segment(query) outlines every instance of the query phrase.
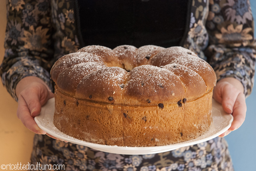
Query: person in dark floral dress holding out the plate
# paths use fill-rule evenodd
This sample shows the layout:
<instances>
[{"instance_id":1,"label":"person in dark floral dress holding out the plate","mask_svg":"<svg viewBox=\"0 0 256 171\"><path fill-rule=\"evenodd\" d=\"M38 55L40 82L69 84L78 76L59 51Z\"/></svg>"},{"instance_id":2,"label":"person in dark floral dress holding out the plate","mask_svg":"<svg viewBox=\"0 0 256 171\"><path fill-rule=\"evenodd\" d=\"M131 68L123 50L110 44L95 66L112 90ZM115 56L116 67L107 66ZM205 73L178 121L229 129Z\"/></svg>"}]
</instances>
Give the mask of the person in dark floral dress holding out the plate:
<instances>
[{"instance_id":1,"label":"person in dark floral dress holding out the plate","mask_svg":"<svg viewBox=\"0 0 256 171\"><path fill-rule=\"evenodd\" d=\"M18 101L18 118L36 133L31 164L64 164L65 170L77 171L232 171L228 145L221 137L245 120L245 98L252 92L255 73L253 23L249 0L7 1L0 74ZM93 44L194 51L215 70L213 98L234 116L231 127L207 142L147 155L105 153L47 134L34 117L54 97L51 67L65 54Z\"/></svg>"}]
</instances>

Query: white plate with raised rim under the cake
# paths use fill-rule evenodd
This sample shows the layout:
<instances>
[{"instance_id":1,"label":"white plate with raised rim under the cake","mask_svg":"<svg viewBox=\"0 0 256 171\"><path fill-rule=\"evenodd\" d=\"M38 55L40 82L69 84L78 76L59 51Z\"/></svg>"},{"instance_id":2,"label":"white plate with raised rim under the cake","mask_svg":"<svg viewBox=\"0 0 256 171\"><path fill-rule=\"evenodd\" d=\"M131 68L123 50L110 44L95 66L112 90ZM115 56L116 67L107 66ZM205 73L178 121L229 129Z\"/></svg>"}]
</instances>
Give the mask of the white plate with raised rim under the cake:
<instances>
[{"instance_id":1,"label":"white plate with raised rim under the cake","mask_svg":"<svg viewBox=\"0 0 256 171\"><path fill-rule=\"evenodd\" d=\"M212 100L212 115L213 115L213 124L210 126L208 132L197 137L196 139L185 141L181 143L164 145L164 146L153 146L153 147L126 147L126 146L111 146L111 145L102 145L94 144L90 142L81 141L75 139L69 135L66 135L59 131L53 124L53 115L54 115L54 98L48 100L48 102L42 107L41 114L35 117L37 125L44 130L45 132L68 142L88 146L92 149L116 153L116 154L153 154L153 153L162 153L166 151L171 151L177 148L184 146L198 144L204 141L211 140L220 134L224 133L229 129L233 121L233 116L227 114L223 111L222 106Z\"/></svg>"}]
</instances>

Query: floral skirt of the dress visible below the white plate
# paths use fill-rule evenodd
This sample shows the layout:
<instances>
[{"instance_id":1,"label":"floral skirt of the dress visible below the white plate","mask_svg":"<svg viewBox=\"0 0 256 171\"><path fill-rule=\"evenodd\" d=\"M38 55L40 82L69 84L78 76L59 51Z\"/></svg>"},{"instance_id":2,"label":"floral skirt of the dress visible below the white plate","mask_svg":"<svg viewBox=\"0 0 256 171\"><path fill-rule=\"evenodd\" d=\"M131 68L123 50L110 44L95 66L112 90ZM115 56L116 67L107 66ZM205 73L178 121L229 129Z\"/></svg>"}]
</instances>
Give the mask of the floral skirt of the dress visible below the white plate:
<instances>
[{"instance_id":1,"label":"floral skirt of the dress visible below the white plate","mask_svg":"<svg viewBox=\"0 0 256 171\"><path fill-rule=\"evenodd\" d=\"M64 164L68 171L233 171L225 139L145 155L106 153L35 135L31 164Z\"/></svg>"}]
</instances>

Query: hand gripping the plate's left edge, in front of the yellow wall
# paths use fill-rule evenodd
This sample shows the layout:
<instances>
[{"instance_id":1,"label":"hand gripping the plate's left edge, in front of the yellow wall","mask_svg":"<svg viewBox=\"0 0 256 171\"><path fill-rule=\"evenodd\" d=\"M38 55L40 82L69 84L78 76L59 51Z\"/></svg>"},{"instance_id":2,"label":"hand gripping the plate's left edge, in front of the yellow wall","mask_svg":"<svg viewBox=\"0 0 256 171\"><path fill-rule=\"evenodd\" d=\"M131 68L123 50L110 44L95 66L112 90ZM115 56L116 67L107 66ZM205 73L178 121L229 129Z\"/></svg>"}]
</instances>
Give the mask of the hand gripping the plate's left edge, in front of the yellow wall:
<instances>
[{"instance_id":1,"label":"hand gripping the plate's left edge, in front of the yellow wall","mask_svg":"<svg viewBox=\"0 0 256 171\"><path fill-rule=\"evenodd\" d=\"M46 134L60 140L40 129L34 120L34 117L40 114L42 105L54 97L43 80L34 76L21 79L16 86L16 95L19 97L17 117L21 122L36 134Z\"/></svg>"}]
</instances>

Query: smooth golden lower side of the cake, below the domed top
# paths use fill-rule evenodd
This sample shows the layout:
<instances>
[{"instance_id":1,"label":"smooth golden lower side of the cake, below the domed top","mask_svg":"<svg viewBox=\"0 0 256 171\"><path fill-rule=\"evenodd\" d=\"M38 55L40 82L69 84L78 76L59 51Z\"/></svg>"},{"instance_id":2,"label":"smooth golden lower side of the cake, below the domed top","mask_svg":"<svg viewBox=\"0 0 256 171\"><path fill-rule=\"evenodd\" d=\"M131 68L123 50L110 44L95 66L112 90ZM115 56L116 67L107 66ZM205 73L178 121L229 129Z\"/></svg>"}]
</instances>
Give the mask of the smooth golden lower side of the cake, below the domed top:
<instances>
[{"instance_id":1,"label":"smooth golden lower side of the cake, below the domed top","mask_svg":"<svg viewBox=\"0 0 256 171\"><path fill-rule=\"evenodd\" d=\"M77 99L55 87L54 125L77 139L106 145L159 146L188 141L212 122L212 89L190 101L128 106Z\"/></svg>"}]
</instances>

